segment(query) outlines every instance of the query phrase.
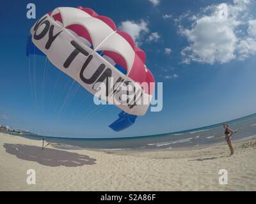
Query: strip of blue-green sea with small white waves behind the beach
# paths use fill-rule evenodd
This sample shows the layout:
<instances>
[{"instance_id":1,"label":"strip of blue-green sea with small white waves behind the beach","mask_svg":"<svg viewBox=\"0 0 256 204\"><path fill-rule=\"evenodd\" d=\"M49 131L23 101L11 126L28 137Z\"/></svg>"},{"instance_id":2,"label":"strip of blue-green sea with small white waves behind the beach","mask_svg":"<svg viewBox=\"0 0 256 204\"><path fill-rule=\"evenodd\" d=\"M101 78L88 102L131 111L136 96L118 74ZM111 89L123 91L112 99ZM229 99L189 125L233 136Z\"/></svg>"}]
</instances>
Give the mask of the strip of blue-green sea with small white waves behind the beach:
<instances>
[{"instance_id":1,"label":"strip of blue-green sea with small white waves behind the beach","mask_svg":"<svg viewBox=\"0 0 256 204\"><path fill-rule=\"evenodd\" d=\"M237 131L232 140L256 135L256 114L226 122ZM33 140L42 140L42 136L22 135ZM200 147L212 143L225 142L221 124L204 128L168 133L163 135L141 136L136 138L81 139L53 138L44 136L46 142L55 143L59 149L100 149L100 150L156 150Z\"/></svg>"}]
</instances>

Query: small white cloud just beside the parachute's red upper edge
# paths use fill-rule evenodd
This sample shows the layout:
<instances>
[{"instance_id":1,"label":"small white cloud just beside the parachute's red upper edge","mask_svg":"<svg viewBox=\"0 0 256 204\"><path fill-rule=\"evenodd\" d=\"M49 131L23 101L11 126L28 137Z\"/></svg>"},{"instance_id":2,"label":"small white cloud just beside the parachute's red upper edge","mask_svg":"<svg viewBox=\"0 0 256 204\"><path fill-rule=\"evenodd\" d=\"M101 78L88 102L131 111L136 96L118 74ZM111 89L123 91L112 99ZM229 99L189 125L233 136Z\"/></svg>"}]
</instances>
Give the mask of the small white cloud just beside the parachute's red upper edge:
<instances>
[{"instance_id":1,"label":"small white cloud just beside the parachute's red upper edge","mask_svg":"<svg viewBox=\"0 0 256 204\"><path fill-rule=\"evenodd\" d=\"M141 38L143 34L148 33L148 22L141 19L140 22L134 22L133 20L126 20L121 23L118 29L129 33L136 44L141 44Z\"/></svg>"}]
</instances>

